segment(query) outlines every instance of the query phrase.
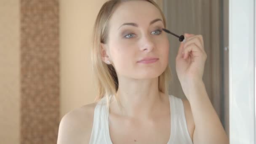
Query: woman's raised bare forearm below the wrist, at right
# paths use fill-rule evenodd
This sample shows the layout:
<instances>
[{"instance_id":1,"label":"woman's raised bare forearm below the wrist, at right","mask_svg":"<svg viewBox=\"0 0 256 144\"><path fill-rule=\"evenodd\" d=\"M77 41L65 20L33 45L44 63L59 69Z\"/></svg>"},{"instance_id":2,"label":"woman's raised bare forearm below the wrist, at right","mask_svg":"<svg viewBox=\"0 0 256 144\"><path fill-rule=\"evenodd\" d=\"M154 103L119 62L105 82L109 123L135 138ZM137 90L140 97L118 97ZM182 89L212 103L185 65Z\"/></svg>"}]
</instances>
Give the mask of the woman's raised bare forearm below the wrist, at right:
<instances>
[{"instance_id":1,"label":"woman's raised bare forearm below the wrist, at right","mask_svg":"<svg viewBox=\"0 0 256 144\"><path fill-rule=\"evenodd\" d=\"M227 134L213 108L203 81L197 81L189 88L189 99L195 123L194 144L229 144Z\"/></svg>"}]
</instances>

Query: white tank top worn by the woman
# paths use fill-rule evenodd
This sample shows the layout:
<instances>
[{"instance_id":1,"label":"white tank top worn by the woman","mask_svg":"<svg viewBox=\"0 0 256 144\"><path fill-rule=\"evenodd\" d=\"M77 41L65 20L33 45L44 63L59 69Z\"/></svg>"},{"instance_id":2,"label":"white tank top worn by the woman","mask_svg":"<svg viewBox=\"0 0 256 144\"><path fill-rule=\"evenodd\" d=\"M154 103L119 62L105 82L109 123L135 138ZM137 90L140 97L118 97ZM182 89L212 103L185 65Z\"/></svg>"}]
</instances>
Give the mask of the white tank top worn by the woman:
<instances>
[{"instance_id":1,"label":"white tank top worn by the woman","mask_svg":"<svg viewBox=\"0 0 256 144\"><path fill-rule=\"evenodd\" d=\"M169 95L171 109L171 136L167 144L193 144L187 130L187 122L181 99ZM94 109L93 128L89 144L112 144L109 134L109 109L102 98Z\"/></svg>"}]
</instances>

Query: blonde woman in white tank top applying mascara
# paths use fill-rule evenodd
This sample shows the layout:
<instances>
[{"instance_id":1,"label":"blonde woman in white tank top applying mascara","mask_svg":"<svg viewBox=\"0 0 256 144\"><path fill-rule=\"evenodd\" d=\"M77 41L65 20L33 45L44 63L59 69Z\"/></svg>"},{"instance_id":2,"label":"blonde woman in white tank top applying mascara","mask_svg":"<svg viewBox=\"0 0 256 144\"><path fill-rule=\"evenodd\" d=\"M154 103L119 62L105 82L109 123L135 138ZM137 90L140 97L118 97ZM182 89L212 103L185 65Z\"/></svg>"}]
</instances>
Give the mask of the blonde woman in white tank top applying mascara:
<instances>
[{"instance_id":1,"label":"blonde woman in white tank top applying mascara","mask_svg":"<svg viewBox=\"0 0 256 144\"><path fill-rule=\"evenodd\" d=\"M176 72L187 100L168 95L169 42L153 0L109 0L96 19L96 103L65 115L58 144L228 144L203 83L201 35L185 34Z\"/></svg>"}]
</instances>

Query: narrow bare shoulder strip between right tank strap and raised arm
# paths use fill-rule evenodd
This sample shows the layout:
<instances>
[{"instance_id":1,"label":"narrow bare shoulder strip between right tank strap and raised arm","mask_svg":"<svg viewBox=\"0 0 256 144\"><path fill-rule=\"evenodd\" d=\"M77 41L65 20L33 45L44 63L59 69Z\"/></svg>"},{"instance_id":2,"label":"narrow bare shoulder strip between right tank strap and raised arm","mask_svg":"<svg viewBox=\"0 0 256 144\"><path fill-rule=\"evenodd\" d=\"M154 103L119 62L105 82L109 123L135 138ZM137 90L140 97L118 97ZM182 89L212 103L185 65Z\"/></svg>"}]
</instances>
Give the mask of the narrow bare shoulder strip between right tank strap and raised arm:
<instances>
[{"instance_id":1,"label":"narrow bare shoulder strip between right tank strap and raised arm","mask_svg":"<svg viewBox=\"0 0 256 144\"><path fill-rule=\"evenodd\" d=\"M190 138L193 140L193 133L195 129L194 118L192 115L191 107L187 99L181 99L184 106L184 113L187 121L187 129L189 131Z\"/></svg>"}]
</instances>

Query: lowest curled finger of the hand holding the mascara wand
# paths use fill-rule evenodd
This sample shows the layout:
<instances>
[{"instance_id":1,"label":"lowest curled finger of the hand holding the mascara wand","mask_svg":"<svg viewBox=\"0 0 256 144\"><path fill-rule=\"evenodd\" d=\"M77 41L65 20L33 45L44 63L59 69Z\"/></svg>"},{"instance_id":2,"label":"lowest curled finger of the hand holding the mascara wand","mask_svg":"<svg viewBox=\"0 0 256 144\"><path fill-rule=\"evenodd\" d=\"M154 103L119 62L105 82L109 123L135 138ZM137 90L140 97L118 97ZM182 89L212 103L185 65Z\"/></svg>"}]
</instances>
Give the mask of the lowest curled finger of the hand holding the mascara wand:
<instances>
[{"instance_id":1,"label":"lowest curled finger of the hand holding the mascara wand","mask_svg":"<svg viewBox=\"0 0 256 144\"><path fill-rule=\"evenodd\" d=\"M203 51L195 43L192 43L184 48L184 57L183 58L187 59L190 52L192 52L193 56L200 56L203 53Z\"/></svg>"}]
</instances>

